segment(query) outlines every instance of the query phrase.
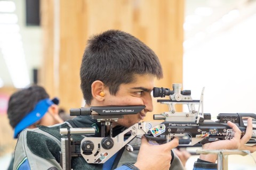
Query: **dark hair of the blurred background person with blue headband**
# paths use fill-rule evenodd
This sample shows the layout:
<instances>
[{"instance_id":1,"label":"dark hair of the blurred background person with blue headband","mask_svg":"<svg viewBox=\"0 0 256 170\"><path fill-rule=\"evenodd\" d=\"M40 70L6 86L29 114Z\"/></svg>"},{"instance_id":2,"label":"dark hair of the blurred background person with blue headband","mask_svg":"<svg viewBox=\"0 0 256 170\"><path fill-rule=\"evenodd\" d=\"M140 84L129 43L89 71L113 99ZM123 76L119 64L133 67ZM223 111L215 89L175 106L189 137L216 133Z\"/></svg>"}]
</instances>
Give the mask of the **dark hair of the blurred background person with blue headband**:
<instances>
[{"instance_id":1,"label":"dark hair of the blurred background person with blue headband","mask_svg":"<svg viewBox=\"0 0 256 170\"><path fill-rule=\"evenodd\" d=\"M43 87L30 86L21 89L11 95L8 103L7 114L12 128L33 111L39 100L49 98L49 95Z\"/></svg>"}]
</instances>

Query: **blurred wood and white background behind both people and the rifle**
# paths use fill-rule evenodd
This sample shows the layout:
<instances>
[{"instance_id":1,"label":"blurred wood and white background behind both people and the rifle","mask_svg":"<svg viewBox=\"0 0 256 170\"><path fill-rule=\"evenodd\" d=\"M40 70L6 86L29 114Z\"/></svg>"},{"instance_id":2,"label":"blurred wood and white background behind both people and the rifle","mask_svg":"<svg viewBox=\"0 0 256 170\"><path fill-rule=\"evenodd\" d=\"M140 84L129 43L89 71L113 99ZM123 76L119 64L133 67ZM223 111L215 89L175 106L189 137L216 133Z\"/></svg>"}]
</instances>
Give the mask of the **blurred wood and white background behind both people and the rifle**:
<instances>
[{"instance_id":1,"label":"blurred wood and white background behind both people and the rifle","mask_svg":"<svg viewBox=\"0 0 256 170\"><path fill-rule=\"evenodd\" d=\"M6 115L9 96L37 83L59 97L67 113L82 107L86 40L108 29L129 32L154 50L164 69L156 87L183 83L193 99L205 87L204 111L213 119L256 113L255 13L255 0L0 0L0 156L16 143ZM146 120L167 111L153 100ZM250 156L229 160L230 169L255 168Z\"/></svg>"}]
</instances>

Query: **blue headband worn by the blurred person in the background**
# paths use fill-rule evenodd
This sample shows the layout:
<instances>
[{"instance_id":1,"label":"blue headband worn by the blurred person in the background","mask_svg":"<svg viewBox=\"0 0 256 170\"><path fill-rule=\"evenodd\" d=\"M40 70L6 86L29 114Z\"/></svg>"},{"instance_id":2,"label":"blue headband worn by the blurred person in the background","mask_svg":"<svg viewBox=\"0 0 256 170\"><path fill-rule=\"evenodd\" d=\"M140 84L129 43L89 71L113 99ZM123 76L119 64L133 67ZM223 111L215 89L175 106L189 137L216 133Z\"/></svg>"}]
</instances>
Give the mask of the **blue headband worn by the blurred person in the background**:
<instances>
[{"instance_id":1,"label":"blue headband worn by the blurred person in the background","mask_svg":"<svg viewBox=\"0 0 256 170\"><path fill-rule=\"evenodd\" d=\"M14 138L18 138L19 133L26 129L28 126L36 123L41 120L45 113L48 111L48 108L53 105L53 101L50 99L40 100L35 109L29 112L14 128Z\"/></svg>"}]
</instances>

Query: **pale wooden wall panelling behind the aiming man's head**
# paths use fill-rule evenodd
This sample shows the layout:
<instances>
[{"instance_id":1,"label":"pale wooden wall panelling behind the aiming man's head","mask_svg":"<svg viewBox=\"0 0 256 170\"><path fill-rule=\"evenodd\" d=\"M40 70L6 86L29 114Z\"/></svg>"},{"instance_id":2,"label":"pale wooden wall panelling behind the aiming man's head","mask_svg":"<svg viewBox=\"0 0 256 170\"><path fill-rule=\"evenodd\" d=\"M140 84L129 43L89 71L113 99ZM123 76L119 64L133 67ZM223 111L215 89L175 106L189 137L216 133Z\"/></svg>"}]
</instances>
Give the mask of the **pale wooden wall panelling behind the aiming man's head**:
<instances>
[{"instance_id":1,"label":"pale wooden wall panelling behind the aiming man's head","mask_svg":"<svg viewBox=\"0 0 256 170\"><path fill-rule=\"evenodd\" d=\"M51 4L50 1L43 3ZM43 84L47 89L54 89L51 93L59 95L61 106L67 111L70 107L81 107L79 67L86 40L108 29L129 32L154 50L164 70L164 79L156 81L157 87L172 88L172 83L182 83L183 0L77 0L59 1L59 4L59 78L54 83L51 76L45 77ZM48 10L51 8L50 5ZM43 16L51 20L52 13ZM52 26L45 29L51 30ZM50 33L45 36L52 38ZM46 48L50 45L45 43ZM52 58L51 53L45 54L45 58ZM58 87L53 88L56 83ZM156 99L154 107L154 114L167 111L166 106L156 104ZM147 116L147 120L151 117L151 114Z\"/></svg>"}]
</instances>

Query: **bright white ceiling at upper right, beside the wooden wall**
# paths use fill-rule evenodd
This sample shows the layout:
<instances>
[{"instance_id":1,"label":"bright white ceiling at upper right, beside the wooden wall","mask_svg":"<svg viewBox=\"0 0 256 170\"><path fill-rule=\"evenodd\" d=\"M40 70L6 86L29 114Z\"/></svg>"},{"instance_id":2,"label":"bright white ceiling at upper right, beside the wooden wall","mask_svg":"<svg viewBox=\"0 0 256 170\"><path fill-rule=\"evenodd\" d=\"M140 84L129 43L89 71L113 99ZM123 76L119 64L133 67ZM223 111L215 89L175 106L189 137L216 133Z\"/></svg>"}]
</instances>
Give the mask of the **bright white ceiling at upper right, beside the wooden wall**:
<instances>
[{"instance_id":1,"label":"bright white ceiling at upper right, beside the wooden wall","mask_svg":"<svg viewBox=\"0 0 256 170\"><path fill-rule=\"evenodd\" d=\"M256 13L255 0L185 0L185 52L227 31ZM199 7L212 10L209 16L197 14ZM197 16L198 23L186 24L189 16ZM193 19L193 18L192 18ZM199 20L199 21L198 21ZM193 21L193 20L192 20ZM188 27L189 26L189 27Z\"/></svg>"}]
</instances>

